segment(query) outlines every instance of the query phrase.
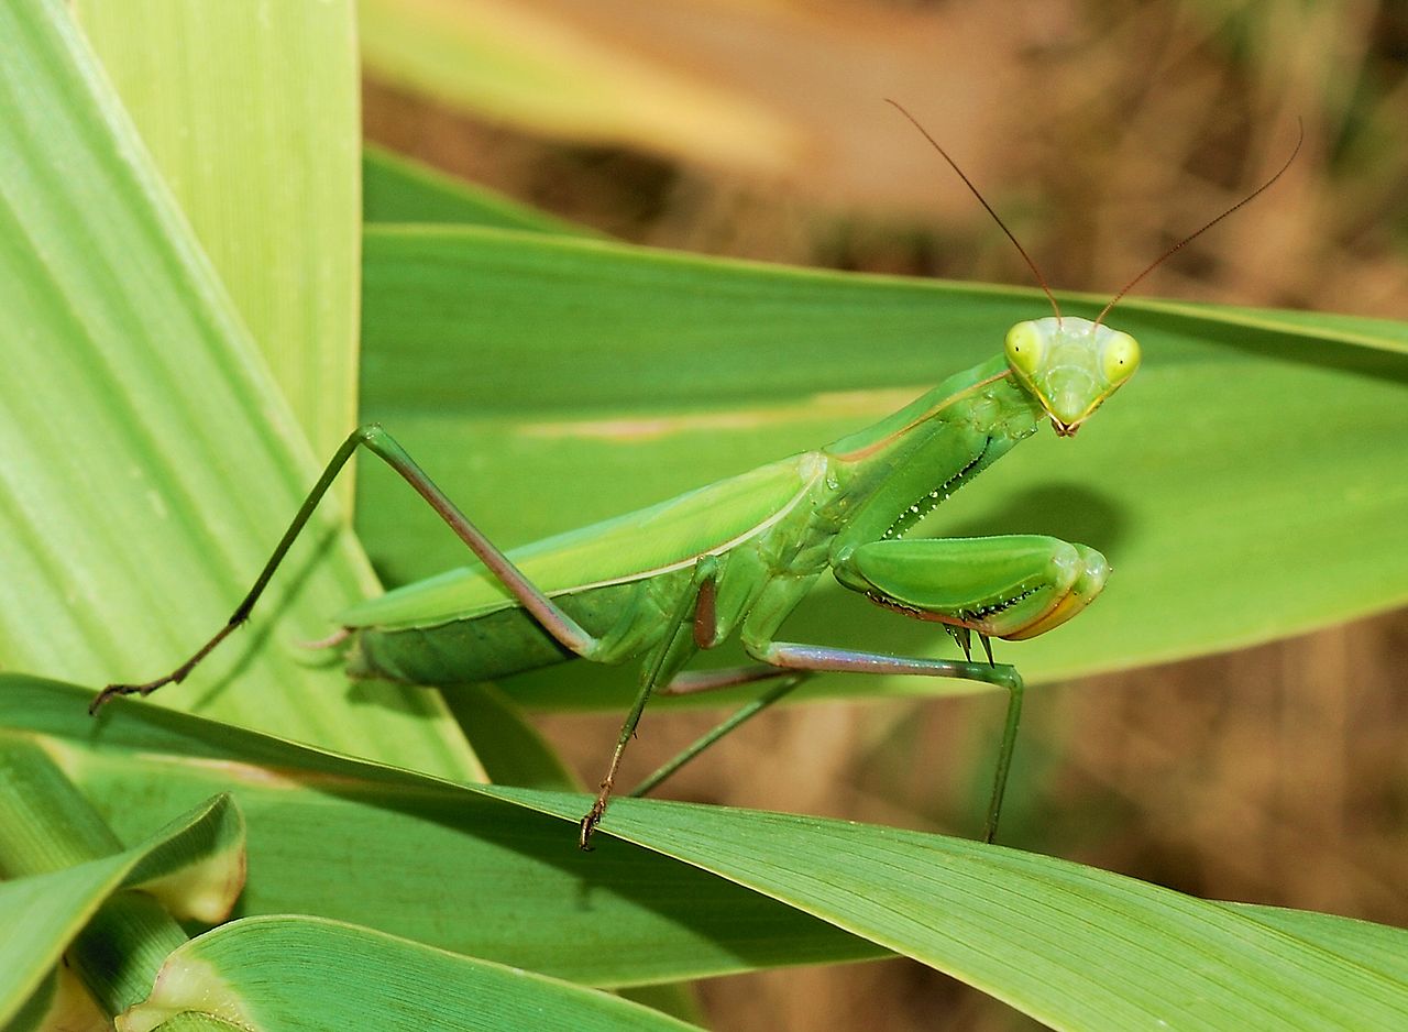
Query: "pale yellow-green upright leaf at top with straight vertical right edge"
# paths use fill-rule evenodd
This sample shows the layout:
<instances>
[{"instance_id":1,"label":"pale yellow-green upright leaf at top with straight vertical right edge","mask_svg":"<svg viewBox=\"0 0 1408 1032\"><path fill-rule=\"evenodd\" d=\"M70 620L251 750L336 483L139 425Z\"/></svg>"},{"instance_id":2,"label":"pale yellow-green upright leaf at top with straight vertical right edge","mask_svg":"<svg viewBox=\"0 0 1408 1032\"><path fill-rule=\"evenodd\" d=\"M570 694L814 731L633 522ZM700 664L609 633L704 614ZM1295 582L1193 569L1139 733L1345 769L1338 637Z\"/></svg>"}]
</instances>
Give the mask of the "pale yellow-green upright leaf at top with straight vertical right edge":
<instances>
[{"instance_id":1,"label":"pale yellow-green upright leaf at top with straight vertical right edge","mask_svg":"<svg viewBox=\"0 0 1408 1032\"><path fill-rule=\"evenodd\" d=\"M356 418L352 0L258 15L186 0L75 7L298 425L331 455Z\"/></svg>"}]
</instances>

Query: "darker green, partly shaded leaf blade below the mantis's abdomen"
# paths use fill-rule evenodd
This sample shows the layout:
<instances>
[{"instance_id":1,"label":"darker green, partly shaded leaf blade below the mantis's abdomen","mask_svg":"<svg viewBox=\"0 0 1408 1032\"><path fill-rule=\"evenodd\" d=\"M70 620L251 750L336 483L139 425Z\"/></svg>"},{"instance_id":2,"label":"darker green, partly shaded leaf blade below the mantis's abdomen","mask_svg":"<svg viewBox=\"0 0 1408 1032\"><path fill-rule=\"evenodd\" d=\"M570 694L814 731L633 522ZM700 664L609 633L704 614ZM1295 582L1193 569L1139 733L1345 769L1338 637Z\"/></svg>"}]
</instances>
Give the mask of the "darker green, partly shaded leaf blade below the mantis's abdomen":
<instances>
[{"instance_id":1,"label":"darker green, partly shaded leaf blade below the mantis's abdomen","mask_svg":"<svg viewBox=\"0 0 1408 1032\"><path fill-rule=\"evenodd\" d=\"M498 800L149 705L114 707L94 738L80 701L0 674L0 726L62 757L118 835L234 795L246 915L313 912L605 987L883 955L648 850L583 853L572 829Z\"/></svg>"}]
</instances>

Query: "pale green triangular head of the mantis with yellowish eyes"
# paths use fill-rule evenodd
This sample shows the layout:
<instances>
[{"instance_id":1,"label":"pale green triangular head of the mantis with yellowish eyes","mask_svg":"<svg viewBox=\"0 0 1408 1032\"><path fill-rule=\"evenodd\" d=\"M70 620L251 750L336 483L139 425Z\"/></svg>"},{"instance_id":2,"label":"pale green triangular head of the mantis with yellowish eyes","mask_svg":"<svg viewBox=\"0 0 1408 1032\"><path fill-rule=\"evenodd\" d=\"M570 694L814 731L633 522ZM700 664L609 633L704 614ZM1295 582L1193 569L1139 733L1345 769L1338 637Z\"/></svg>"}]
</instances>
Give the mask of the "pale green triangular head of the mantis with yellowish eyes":
<instances>
[{"instance_id":1,"label":"pale green triangular head of the mantis with yellowish eyes","mask_svg":"<svg viewBox=\"0 0 1408 1032\"><path fill-rule=\"evenodd\" d=\"M1018 322L1007 334L1007 365L1071 436L1100 404L1139 367L1139 344L1129 334L1067 315Z\"/></svg>"}]
</instances>

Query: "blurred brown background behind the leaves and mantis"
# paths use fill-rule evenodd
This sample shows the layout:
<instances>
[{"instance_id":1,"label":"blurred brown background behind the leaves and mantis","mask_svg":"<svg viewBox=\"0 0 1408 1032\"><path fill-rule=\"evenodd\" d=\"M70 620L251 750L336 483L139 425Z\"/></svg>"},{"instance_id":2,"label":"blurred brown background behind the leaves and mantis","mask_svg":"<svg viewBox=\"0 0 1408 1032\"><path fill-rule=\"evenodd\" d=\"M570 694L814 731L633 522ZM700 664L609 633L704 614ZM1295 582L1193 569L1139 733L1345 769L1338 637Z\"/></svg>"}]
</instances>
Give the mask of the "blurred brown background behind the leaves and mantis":
<instances>
[{"instance_id":1,"label":"blurred brown background behind the leaves and mantis","mask_svg":"<svg viewBox=\"0 0 1408 1032\"><path fill-rule=\"evenodd\" d=\"M1300 120L1304 148L1274 190L1139 293L1408 318L1402 3L531 0L515 11L683 86L628 90L617 124L549 125L449 110L373 68L367 137L627 241L1031 283L988 217L883 103L894 97L1055 286L1112 293L1270 175ZM696 94L727 117L669 104ZM635 117L631 106L652 99L663 122ZM1408 476L1408 442L1404 466L1384 474ZM1305 562L1353 546L1307 542ZM1398 612L1041 686L1002 841L1202 897L1405 925L1405 656L1408 614ZM994 696L772 714L680 774L670 794L970 835L1000 717ZM632 764L648 770L711 719L649 715ZM548 722L587 781L615 726ZM721 978L700 994L719 1029L1026 1026L905 960Z\"/></svg>"}]
</instances>

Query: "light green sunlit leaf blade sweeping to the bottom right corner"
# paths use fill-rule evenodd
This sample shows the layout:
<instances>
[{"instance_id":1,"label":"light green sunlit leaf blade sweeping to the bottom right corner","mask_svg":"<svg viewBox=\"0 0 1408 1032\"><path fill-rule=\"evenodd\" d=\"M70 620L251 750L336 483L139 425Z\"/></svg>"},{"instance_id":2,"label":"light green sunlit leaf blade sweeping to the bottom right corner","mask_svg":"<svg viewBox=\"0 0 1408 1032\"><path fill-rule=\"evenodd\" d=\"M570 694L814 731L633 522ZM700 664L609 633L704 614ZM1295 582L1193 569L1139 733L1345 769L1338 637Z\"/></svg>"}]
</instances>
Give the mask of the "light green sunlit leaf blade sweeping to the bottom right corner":
<instances>
[{"instance_id":1,"label":"light green sunlit leaf blade sweeping to the bottom right corner","mask_svg":"<svg viewBox=\"0 0 1408 1032\"><path fill-rule=\"evenodd\" d=\"M574 819L570 798L483 791ZM1343 942L1309 940L1119 874L897 828L642 800L618 800L608 824L610 835L865 935L1052 1028L1408 1022L1408 980L1359 959L1370 943L1401 943L1391 929L1340 926Z\"/></svg>"}]
</instances>

